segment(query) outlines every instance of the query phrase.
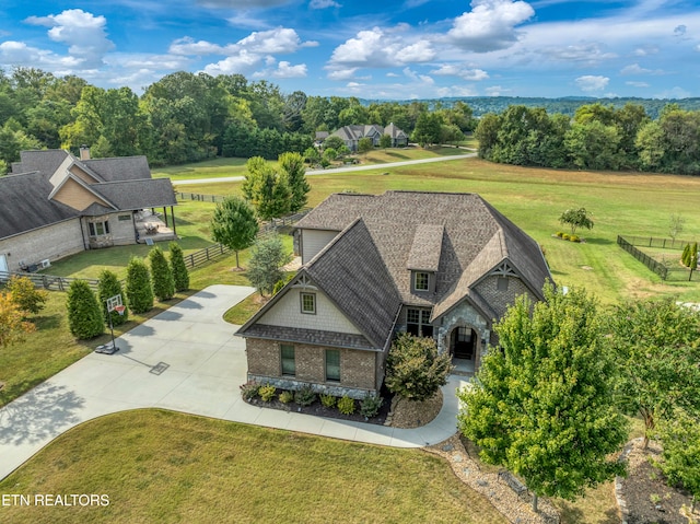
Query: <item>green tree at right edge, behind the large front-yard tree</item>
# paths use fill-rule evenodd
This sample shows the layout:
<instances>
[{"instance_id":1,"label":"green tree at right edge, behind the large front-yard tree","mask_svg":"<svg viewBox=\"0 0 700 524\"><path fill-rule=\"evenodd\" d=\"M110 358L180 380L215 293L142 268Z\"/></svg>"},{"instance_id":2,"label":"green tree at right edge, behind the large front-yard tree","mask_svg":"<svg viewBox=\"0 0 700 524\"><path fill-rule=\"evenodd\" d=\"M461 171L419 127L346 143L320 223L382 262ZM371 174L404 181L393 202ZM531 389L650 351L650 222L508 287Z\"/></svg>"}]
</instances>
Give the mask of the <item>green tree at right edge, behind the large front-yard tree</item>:
<instances>
[{"instance_id":1,"label":"green tree at right edge, behind the large front-yard tree","mask_svg":"<svg viewBox=\"0 0 700 524\"><path fill-rule=\"evenodd\" d=\"M700 414L700 313L673 299L617 305L608 315L616 397L644 420L645 443L676 408Z\"/></svg>"}]
</instances>

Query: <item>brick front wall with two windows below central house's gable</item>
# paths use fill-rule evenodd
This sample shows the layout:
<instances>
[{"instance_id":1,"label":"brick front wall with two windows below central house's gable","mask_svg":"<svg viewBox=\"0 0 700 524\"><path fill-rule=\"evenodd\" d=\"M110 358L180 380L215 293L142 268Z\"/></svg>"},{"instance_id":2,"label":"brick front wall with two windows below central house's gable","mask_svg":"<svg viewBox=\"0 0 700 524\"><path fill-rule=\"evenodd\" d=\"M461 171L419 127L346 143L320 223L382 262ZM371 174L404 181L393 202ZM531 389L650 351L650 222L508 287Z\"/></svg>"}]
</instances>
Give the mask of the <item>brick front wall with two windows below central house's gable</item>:
<instances>
[{"instance_id":1,"label":"brick front wall with two windows below central house's gable","mask_svg":"<svg viewBox=\"0 0 700 524\"><path fill-rule=\"evenodd\" d=\"M282 375L280 342L257 338L246 339L248 380L269 383L284 389L299 389L311 384L314 391L336 396L362 399L378 393L381 379L376 376L377 357L374 351L338 349L340 382L326 381L325 348L294 343L294 376ZM383 379L383 377L382 377Z\"/></svg>"}]
</instances>

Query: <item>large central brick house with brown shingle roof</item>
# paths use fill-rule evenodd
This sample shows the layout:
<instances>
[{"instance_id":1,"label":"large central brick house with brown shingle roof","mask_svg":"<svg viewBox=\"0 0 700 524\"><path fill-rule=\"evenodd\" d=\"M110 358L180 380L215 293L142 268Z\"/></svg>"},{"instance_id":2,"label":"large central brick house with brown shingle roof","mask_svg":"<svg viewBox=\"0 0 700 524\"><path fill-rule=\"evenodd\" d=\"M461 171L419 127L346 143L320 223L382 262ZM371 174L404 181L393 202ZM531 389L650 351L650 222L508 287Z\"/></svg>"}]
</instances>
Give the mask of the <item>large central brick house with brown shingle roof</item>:
<instances>
[{"instance_id":1,"label":"large central brick house with brown shingle roof","mask_svg":"<svg viewBox=\"0 0 700 524\"><path fill-rule=\"evenodd\" d=\"M476 371L493 321L542 299L539 245L474 194L331 195L295 225L302 267L236 335L248 379L362 398L397 331Z\"/></svg>"}]
</instances>

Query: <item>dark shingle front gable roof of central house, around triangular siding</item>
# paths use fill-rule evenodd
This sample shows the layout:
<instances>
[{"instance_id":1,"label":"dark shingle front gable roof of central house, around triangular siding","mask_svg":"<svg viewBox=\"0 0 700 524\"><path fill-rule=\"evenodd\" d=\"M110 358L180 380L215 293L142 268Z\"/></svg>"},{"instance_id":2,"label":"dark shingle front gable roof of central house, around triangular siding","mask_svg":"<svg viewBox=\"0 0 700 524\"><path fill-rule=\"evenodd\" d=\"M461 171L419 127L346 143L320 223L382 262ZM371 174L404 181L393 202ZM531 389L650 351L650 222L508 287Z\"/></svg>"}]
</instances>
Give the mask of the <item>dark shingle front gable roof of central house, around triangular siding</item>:
<instances>
[{"instance_id":1,"label":"dark shingle front gable roof of central house, around triangular siding","mask_svg":"<svg viewBox=\"0 0 700 524\"><path fill-rule=\"evenodd\" d=\"M302 333L304 329L290 330L291 328L287 327L257 324L257 321L305 276L345 314L362 336L313 331L314 338L310 340L306 337L311 335L304 335ZM244 324L237 335L383 350L394 333L394 324L400 307L401 300L398 291L370 232L362 220L355 220L306 263L296 278ZM292 336L295 338L290 338Z\"/></svg>"}]
</instances>

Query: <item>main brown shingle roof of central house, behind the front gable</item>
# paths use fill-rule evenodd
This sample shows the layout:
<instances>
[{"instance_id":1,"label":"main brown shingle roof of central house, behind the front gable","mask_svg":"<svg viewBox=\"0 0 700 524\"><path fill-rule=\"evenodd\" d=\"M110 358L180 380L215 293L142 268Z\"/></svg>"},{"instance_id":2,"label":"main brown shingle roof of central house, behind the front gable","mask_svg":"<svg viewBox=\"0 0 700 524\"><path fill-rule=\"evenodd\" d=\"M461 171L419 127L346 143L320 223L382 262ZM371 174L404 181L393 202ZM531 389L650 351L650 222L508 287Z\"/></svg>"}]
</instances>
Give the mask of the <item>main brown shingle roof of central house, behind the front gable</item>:
<instances>
[{"instance_id":1,"label":"main brown shingle roof of central house, behind the front gable","mask_svg":"<svg viewBox=\"0 0 700 524\"><path fill-rule=\"evenodd\" d=\"M504 259L540 296L549 269L537 243L475 194L387 191L384 195L336 194L300 220L298 229L341 231L362 218L393 282L406 304L446 311L470 286ZM442 223L434 293L411 292L407 269L413 242L425 224ZM418 258L418 255L416 255ZM443 301L445 304L441 305ZM478 299L477 299L478 301Z\"/></svg>"}]
</instances>

